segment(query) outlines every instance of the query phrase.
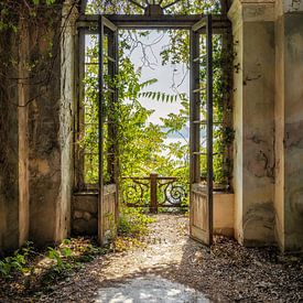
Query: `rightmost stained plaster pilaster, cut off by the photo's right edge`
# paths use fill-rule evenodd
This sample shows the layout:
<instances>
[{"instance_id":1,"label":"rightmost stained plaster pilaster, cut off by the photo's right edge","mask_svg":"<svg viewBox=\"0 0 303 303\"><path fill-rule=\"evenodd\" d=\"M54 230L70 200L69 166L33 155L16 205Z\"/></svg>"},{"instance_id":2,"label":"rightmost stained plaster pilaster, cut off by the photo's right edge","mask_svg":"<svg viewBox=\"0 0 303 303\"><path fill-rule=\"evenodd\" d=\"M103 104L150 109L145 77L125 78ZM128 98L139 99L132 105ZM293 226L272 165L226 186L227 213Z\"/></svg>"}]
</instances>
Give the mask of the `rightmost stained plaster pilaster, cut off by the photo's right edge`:
<instances>
[{"instance_id":1,"label":"rightmost stained plaster pilaster, cut off by the photo's right edge","mask_svg":"<svg viewBox=\"0 0 303 303\"><path fill-rule=\"evenodd\" d=\"M303 249L303 1L275 6L275 232Z\"/></svg>"}]
</instances>

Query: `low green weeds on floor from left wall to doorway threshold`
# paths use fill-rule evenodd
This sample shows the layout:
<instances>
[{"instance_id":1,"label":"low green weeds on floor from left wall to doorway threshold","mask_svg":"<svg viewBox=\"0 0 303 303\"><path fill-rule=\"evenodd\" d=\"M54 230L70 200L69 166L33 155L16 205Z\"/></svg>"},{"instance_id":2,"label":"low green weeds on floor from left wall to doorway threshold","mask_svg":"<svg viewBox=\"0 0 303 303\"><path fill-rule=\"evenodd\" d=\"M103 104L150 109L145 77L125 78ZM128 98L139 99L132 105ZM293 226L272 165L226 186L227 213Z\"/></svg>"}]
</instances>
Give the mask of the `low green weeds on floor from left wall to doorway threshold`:
<instances>
[{"instance_id":1,"label":"low green weeds on floor from left wall to doorway threshold","mask_svg":"<svg viewBox=\"0 0 303 303\"><path fill-rule=\"evenodd\" d=\"M122 208L118 237L100 248L94 238L65 239L56 247L37 249L26 242L12 256L0 259L0 292L40 296L53 291L53 285L73 275L96 257L142 246L154 219L139 209Z\"/></svg>"}]
</instances>

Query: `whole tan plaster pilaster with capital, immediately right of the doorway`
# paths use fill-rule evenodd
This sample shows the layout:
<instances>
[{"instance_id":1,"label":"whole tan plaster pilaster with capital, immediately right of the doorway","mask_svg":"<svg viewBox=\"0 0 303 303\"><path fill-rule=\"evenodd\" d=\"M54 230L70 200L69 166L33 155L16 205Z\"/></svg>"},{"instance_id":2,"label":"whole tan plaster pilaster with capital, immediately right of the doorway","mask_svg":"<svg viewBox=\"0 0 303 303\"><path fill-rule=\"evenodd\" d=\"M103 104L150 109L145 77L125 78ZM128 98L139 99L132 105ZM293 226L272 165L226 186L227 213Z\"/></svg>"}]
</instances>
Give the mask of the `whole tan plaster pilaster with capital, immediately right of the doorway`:
<instances>
[{"instance_id":1,"label":"whole tan plaster pilaster with capital, immediately right of the doorway","mask_svg":"<svg viewBox=\"0 0 303 303\"><path fill-rule=\"evenodd\" d=\"M235 234L274 241L274 2L234 0Z\"/></svg>"}]
</instances>

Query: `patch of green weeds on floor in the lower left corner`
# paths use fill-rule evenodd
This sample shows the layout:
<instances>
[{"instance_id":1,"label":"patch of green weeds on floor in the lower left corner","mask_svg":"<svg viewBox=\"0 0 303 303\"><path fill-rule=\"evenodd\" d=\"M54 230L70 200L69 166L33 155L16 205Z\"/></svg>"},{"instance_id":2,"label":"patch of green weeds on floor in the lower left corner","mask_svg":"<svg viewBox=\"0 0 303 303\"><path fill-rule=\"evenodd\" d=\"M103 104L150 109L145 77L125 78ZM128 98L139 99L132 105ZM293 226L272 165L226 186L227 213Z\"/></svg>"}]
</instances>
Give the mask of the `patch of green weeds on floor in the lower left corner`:
<instances>
[{"instance_id":1,"label":"patch of green weeds on floor in the lower left corner","mask_svg":"<svg viewBox=\"0 0 303 303\"><path fill-rule=\"evenodd\" d=\"M111 251L109 247L97 247L91 239L65 239L56 247L36 249L32 242L12 256L0 259L0 284L11 290L43 294L52 291L56 281L93 261L97 256ZM0 290L1 291L1 290Z\"/></svg>"}]
</instances>

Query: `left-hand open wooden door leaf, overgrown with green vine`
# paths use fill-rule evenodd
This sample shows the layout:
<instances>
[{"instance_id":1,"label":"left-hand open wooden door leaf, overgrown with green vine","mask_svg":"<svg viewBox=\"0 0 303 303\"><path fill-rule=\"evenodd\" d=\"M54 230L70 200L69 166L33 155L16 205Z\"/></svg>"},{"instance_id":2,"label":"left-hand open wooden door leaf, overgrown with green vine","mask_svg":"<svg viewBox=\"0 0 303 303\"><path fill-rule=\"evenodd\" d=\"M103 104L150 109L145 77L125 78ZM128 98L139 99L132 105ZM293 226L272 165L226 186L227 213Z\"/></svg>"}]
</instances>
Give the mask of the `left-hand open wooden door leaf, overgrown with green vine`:
<instances>
[{"instance_id":1,"label":"left-hand open wooden door leaf, overgrown with green vine","mask_svg":"<svg viewBox=\"0 0 303 303\"><path fill-rule=\"evenodd\" d=\"M99 216L98 239L109 242L117 234L118 196L118 129L115 104L118 91L118 29L101 17L99 32Z\"/></svg>"}]
</instances>

